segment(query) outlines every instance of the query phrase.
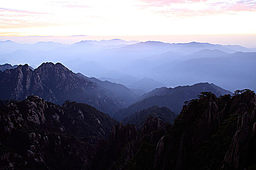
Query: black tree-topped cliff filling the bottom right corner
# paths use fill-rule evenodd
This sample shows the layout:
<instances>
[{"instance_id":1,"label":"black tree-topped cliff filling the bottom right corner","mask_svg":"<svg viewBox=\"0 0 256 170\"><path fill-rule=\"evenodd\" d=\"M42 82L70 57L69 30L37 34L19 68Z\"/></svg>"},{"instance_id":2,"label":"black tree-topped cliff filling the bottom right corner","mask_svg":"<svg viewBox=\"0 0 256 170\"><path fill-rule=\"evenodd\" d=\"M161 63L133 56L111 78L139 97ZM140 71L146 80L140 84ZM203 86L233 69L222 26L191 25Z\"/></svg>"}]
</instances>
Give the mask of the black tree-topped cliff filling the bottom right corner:
<instances>
[{"instance_id":1,"label":"black tree-topped cliff filling the bottom right corner","mask_svg":"<svg viewBox=\"0 0 256 170\"><path fill-rule=\"evenodd\" d=\"M184 105L172 131L158 142L155 169L243 170L255 166L255 97L249 90L232 98L210 95Z\"/></svg>"}]
</instances>

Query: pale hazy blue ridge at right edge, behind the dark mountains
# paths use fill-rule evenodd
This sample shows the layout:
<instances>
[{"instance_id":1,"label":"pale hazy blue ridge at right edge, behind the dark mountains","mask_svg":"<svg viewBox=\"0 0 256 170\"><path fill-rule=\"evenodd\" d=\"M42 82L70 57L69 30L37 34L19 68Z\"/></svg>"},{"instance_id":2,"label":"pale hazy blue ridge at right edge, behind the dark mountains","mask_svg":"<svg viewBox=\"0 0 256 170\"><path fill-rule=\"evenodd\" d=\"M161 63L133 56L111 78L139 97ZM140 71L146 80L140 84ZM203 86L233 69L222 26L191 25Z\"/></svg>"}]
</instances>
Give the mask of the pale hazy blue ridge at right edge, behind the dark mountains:
<instances>
[{"instance_id":1,"label":"pale hazy blue ridge at right edge, behind the dark mountains","mask_svg":"<svg viewBox=\"0 0 256 170\"><path fill-rule=\"evenodd\" d=\"M256 52L236 52L217 57L206 56L178 63L165 63L152 68L149 72L153 78L158 77L159 81L171 86L215 82L229 90L256 89L255 64ZM157 74L159 72L161 74Z\"/></svg>"}]
</instances>

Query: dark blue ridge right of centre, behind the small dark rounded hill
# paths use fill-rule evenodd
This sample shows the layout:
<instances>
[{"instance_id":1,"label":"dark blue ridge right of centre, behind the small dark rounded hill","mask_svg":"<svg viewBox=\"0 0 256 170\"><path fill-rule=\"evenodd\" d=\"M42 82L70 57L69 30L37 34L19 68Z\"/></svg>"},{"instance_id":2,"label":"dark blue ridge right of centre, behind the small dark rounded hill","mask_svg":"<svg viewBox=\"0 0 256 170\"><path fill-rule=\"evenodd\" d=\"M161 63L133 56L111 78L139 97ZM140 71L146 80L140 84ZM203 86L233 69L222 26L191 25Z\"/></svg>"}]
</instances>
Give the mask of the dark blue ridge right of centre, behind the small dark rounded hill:
<instances>
[{"instance_id":1,"label":"dark blue ridge right of centre, behind the small dark rounded hill","mask_svg":"<svg viewBox=\"0 0 256 170\"><path fill-rule=\"evenodd\" d=\"M139 110L147 109L154 105L158 105L158 107L167 107L178 114L185 101L197 98L197 95L203 91L211 91L217 96L231 94L230 91L209 83L177 86L175 88L162 87L142 95L138 99L139 102L136 102L125 109L120 109L113 117L117 120L121 120Z\"/></svg>"}]
</instances>

